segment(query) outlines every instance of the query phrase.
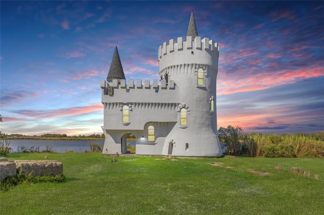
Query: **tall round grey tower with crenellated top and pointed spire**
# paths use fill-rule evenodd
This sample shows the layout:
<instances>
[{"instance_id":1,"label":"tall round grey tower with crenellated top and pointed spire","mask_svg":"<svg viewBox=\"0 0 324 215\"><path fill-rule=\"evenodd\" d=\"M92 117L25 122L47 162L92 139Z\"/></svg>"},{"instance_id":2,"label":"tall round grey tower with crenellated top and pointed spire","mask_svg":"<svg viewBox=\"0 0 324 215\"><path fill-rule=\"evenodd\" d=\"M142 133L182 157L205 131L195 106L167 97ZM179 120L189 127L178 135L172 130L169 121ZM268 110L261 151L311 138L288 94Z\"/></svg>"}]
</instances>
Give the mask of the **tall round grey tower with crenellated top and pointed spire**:
<instances>
[{"instance_id":1,"label":"tall round grey tower with crenellated top and pointed spire","mask_svg":"<svg viewBox=\"0 0 324 215\"><path fill-rule=\"evenodd\" d=\"M218 44L198 36L193 12L186 38L158 48L159 75L174 80L179 90L178 119L166 137L164 155L222 155L216 116L218 57Z\"/></svg>"}]
</instances>

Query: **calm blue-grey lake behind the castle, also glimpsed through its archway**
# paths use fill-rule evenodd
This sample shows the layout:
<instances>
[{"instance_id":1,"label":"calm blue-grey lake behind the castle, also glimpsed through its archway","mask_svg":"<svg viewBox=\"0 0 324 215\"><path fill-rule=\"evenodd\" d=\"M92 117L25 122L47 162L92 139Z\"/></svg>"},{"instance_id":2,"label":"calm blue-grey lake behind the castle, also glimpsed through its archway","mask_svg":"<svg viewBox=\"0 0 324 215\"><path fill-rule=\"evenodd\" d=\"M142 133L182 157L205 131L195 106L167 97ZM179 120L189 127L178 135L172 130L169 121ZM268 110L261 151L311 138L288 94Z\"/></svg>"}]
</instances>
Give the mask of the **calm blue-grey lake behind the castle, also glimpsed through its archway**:
<instances>
[{"instance_id":1,"label":"calm blue-grey lake behind the castle, also glimpsed through its archway","mask_svg":"<svg viewBox=\"0 0 324 215\"><path fill-rule=\"evenodd\" d=\"M99 145L104 144L104 140L10 140L9 147L15 152L17 151L18 146L30 147L39 146L39 150L46 150L46 146L51 146L53 151L56 152L84 152L85 150L90 151L89 143L96 142ZM135 141L127 141L131 145L135 144Z\"/></svg>"}]
</instances>

